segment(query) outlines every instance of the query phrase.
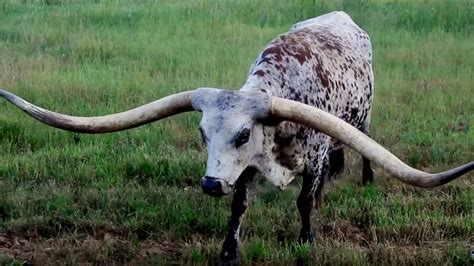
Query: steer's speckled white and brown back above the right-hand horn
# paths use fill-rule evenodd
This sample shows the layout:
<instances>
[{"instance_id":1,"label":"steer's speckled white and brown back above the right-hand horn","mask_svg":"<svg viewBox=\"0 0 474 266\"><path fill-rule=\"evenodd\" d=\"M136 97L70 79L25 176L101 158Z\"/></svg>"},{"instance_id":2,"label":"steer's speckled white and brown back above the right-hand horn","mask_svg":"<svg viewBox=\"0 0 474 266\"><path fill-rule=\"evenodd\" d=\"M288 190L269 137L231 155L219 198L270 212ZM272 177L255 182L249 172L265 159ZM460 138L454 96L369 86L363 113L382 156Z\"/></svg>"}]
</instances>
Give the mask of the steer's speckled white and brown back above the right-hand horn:
<instances>
[{"instance_id":1,"label":"steer's speckled white and brown back above the right-hand horn","mask_svg":"<svg viewBox=\"0 0 474 266\"><path fill-rule=\"evenodd\" d=\"M263 50L242 90L310 104L358 126L372 104L369 36L340 11L299 22Z\"/></svg>"}]
</instances>

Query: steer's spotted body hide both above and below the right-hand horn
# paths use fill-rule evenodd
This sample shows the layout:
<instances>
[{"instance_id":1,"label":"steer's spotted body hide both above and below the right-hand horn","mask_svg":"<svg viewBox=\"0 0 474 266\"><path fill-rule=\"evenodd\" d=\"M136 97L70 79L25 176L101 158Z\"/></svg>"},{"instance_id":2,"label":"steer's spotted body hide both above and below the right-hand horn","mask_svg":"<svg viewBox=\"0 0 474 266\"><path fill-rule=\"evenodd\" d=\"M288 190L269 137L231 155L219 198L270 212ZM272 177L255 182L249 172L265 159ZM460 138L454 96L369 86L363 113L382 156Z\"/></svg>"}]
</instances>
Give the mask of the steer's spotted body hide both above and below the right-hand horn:
<instances>
[{"instance_id":1,"label":"steer's spotted body hide both above and below the right-hand horn","mask_svg":"<svg viewBox=\"0 0 474 266\"><path fill-rule=\"evenodd\" d=\"M263 50L241 91L312 105L367 133L373 98L369 36L344 12L300 22ZM330 137L290 122L264 127L264 138L256 166L280 188L303 170L320 174L328 151L341 148Z\"/></svg>"}]
</instances>

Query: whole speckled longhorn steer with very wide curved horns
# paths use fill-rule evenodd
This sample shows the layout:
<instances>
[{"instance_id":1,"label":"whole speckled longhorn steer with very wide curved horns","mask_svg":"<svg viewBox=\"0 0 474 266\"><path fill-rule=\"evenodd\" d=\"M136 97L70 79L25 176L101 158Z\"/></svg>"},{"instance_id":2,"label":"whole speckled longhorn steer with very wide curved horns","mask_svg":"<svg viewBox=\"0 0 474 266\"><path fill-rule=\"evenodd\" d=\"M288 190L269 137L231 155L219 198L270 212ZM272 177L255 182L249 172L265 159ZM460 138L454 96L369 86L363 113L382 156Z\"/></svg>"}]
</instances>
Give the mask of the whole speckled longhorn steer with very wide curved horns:
<instances>
[{"instance_id":1,"label":"whole speckled longhorn steer with very wide curved horns","mask_svg":"<svg viewBox=\"0 0 474 266\"><path fill-rule=\"evenodd\" d=\"M73 117L34 106L4 90L0 95L48 125L69 131L124 130L177 113L203 113L200 130L208 148L205 193L235 191L223 262L237 260L247 185L260 172L283 189L303 176L297 200L300 241L313 241L315 198L324 177L343 166L342 144L363 155L363 182L373 180L370 161L402 182L434 187L474 169L474 162L439 174L413 169L385 150L369 132L373 99L372 50L368 35L344 12L300 22L258 56L239 92L212 88L178 93L123 113Z\"/></svg>"}]
</instances>

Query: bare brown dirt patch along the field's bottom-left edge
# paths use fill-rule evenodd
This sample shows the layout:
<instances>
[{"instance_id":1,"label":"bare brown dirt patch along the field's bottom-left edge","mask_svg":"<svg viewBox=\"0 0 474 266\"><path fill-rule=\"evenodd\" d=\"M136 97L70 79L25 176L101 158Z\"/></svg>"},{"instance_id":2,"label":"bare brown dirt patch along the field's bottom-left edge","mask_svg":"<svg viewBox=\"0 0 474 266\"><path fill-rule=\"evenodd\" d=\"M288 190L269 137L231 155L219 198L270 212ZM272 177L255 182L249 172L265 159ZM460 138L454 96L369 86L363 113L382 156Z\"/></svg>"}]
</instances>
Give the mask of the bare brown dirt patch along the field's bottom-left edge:
<instances>
[{"instance_id":1,"label":"bare brown dirt patch along the field's bottom-left edge","mask_svg":"<svg viewBox=\"0 0 474 266\"><path fill-rule=\"evenodd\" d=\"M0 233L0 254L25 263L86 262L132 263L152 258L172 260L182 254L185 243L158 240L135 242L113 232L98 231L93 235L61 234L53 238L22 236L14 232Z\"/></svg>"}]
</instances>

